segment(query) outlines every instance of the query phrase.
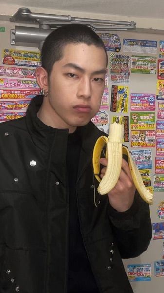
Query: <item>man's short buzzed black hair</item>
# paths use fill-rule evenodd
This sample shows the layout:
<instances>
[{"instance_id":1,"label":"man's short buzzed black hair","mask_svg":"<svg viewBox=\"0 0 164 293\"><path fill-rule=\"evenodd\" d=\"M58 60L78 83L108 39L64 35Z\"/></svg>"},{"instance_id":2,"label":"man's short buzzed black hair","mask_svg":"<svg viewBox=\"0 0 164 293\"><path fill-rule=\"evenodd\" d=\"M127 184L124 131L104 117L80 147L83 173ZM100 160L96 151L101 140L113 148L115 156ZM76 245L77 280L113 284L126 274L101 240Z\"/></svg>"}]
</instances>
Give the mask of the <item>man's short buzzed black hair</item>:
<instances>
[{"instance_id":1,"label":"man's short buzzed black hair","mask_svg":"<svg viewBox=\"0 0 164 293\"><path fill-rule=\"evenodd\" d=\"M63 57L63 49L68 44L94 45L102 48L108 56L102 39L87 25L68 24L53 30L45 39L41 50L42 67L50 76L54 63Z\"/></svg>"}]
</instances>

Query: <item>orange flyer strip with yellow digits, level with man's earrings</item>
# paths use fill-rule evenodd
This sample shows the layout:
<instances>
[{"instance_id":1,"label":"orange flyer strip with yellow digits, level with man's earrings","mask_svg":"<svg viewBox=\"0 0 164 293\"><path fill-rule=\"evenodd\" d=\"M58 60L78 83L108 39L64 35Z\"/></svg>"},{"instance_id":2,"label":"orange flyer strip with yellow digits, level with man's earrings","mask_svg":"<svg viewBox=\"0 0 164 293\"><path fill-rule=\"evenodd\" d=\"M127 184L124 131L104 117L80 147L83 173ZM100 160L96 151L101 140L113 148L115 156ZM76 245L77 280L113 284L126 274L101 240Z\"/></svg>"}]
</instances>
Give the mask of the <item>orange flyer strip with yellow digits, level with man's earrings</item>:
<instances>
[{"instance_id":1,"label":"orange flyer strip with yellow digits, level with man's earrings","mask_svg":"<svg viewBox=\"0 0 164 293\"><path fill-rule=\"evenodd\" d=\"M14 90L14 89L1 89L0 99L32 99L40 94L40 89L30 90Z\"/></svg>"}]
</instances>

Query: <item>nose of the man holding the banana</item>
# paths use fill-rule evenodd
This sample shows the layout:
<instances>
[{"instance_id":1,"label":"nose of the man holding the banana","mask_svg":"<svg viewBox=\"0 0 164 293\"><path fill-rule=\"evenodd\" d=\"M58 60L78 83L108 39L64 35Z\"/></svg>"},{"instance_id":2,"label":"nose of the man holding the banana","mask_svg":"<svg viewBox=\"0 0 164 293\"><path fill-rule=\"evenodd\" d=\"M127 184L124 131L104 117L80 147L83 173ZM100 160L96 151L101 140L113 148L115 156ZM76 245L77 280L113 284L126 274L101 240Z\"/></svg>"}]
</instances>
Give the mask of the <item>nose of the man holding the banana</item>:
<instances>
[{"instance_id":1,"label":"nose of the man holding the banana","mask_svg":"<svg viewBox=\"0 0 164 293\"><path fill-rule=\"evenodd\" d=\"M85 77L78 84L77 96L79 98L89 99L91 97L91 81Z\"/></svg>"}]
</instances>

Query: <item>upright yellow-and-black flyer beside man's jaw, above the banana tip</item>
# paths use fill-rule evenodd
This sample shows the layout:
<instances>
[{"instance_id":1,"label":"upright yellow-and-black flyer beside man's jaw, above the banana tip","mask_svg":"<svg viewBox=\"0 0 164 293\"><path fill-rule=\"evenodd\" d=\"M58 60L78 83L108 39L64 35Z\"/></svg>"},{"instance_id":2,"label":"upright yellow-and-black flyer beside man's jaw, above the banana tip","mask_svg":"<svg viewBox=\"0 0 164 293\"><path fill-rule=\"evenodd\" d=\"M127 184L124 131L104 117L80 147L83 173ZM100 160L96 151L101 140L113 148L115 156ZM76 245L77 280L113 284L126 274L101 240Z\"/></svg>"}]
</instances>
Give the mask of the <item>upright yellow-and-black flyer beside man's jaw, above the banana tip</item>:
<instances>
[{"instance_id":1,"label":"upright yellow-and-black flyer beside man's jaw, above the banana tip","mask_svg":"<svg viewBox=\"0 0 164 293\"><path fill-rule=\"evenodd\" d=\"M110 111L127 113L129 88L124 85L112 85Z\"/></svg>"}]
</instances>

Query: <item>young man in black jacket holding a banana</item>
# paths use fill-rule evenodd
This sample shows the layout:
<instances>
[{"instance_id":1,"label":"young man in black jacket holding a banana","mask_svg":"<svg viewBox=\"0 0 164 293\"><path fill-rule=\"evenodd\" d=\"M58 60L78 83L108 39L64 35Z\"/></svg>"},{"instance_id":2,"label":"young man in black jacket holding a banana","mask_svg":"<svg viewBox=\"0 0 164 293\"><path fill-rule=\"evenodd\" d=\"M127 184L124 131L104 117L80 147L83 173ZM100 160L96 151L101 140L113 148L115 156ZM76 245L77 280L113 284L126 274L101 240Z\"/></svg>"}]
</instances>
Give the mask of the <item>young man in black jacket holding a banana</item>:
<instances>
[{"instance_id":1,"label":"young man in black jacket holding a banana","mask_svg":"<svg viewBox=\"0 0 164 293\"><path fill-rule=\"evenodd\" d=\"M0 124L0 292L132 293L121 258L147 249L151 221L124 159L115 188L97 193L92 152L102 132L90 120L106 67L90 28L54 30L36 70L44 96Z\"/></svg>"}]
</instances>

